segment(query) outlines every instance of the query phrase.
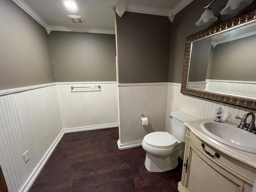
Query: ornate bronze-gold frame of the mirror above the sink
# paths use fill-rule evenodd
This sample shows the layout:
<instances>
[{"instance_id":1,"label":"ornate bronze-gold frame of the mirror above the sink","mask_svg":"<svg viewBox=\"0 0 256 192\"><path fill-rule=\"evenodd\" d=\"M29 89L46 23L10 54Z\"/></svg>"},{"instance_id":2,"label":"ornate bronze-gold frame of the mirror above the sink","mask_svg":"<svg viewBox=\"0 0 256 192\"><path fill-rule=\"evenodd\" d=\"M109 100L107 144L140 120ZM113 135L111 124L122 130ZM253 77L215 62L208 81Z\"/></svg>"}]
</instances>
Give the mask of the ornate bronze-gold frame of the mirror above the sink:
<instances>
[{"instance_id":1,"label":"ornate bronze-gold frame of the mirror above the sink","mask_svg":"<svg viewBox=\"0 0 256 192\"><path fill-rule=\"evenodd\" d=\"M234 18L226 20L220 24L217 24L215 26L202 30L196 34L188 36L186 38L184 64L182 70L181 93L256 110L256 99L253 100L244 98L242 96L233 96L228 94L220 94L215 92L187 88L192 42L199 40L201 38L205 38L207 36L212 36L213 34L224 32L226 30L238 28L240 26L250 24L252 22L256 22L256 9L250 10Z\"/></svg>"}]
</instances>

